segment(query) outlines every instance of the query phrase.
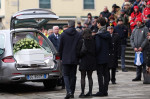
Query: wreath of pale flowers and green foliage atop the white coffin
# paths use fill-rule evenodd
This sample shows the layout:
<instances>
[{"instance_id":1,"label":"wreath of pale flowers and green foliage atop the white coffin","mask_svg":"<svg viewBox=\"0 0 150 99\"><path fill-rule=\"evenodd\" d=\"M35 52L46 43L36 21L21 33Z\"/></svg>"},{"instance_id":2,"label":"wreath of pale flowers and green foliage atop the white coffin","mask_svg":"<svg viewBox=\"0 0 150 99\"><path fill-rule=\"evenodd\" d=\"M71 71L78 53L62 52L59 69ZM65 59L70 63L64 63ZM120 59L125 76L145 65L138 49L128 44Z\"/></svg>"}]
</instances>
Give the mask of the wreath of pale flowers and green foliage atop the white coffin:
<instances>
[{"instance_id":1,"label":"wreath of pale flowers and green foliage atop the white coffin","mask_svg":"<svg viewBox=\"0 0 150 99\"><path fill-rule=\"evenodd\" d=\"M41 48L38 42L31 38L24 38L19 40L13 48L13 52L16 53L17 51L20 51L21 49L36 49Z\"/></svg>"}]
</instances>

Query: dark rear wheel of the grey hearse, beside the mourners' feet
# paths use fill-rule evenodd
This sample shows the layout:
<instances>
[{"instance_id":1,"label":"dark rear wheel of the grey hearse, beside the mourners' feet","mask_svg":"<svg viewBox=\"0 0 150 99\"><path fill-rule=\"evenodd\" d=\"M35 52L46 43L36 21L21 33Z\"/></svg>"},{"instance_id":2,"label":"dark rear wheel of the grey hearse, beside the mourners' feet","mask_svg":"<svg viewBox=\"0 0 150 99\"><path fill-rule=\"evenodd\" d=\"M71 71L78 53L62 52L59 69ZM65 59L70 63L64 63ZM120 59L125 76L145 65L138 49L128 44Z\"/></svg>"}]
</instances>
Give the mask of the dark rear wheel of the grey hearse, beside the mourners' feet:
<instances>
[{"instance_id":1,"label":"dark rear wheel of the grey hearse, beside the mourners' feet","mask_svg":"<svg viewBox=\"0 0 150 99\"><path fill-rule=\"evenodd\" d=\"M57 85L57 79L45 80L43 84L46 89L54 89Z\"/></svg>"}]
</instances>

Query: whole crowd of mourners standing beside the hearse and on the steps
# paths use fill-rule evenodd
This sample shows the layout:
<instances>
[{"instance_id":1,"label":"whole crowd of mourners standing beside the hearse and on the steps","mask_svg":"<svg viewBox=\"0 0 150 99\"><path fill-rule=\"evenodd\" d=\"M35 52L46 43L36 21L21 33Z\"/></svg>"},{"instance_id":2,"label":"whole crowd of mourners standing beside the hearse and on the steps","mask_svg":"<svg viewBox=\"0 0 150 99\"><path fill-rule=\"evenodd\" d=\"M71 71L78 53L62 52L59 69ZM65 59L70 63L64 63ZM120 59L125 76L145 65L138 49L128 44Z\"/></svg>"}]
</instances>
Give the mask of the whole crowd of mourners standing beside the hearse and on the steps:
<instances>
[{"instance_id":1,"label":"whole crowd of mourners standing beside the hearse and on the steps","mask_svg":"<svg viewBox=\"0 0 150 99\"><path fill-rule=\"evenodd\" d=\"M127 38L130 38L135 53L143 53L144 60L137 66L136 77L132 81L141 81L141 73L146 72L146 65L150 71L150 53L147 53L150 51L150 0L124 0L121 7L113 4L111 12L105 6L99 16L93 17L88 13L83 25L77 22L75 27L75 21L69 21L68 25L63 26L63 30L54 26L47 34L62 60L63 80L67 91L65 99L74 98L77 65L81 72L79 97L108 96L109 82L116 84L119 58L122 72L128 72L125 66ZM95 70L99 90L92 94L92 73ZM86 75L89 82L87 94Z\"/></svg>"}]
</instances>

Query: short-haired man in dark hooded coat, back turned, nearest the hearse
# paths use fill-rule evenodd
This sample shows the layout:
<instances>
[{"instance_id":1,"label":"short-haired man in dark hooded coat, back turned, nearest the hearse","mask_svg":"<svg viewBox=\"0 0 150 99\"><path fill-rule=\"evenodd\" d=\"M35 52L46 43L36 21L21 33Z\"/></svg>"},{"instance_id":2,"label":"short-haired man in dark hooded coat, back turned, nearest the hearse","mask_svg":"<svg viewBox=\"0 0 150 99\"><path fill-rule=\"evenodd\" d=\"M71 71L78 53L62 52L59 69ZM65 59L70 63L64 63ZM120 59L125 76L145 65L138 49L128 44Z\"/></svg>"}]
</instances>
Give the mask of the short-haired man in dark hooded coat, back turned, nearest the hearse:
<instances>
[{"instance_id":1,"label":"short-haired man in dark hooded coat, back turned, nearest the hearse","mask_svg":"<svg viewBox=\"0 0 150 99\"><path fill-rule=\"evenodd\" d=\"M75 29L75 21L69 21L68 26L69 28L61 34L59 46L63 77L67 91L65 99L74 97L77 65L79 64L77 44L81 39L81 34Z\"/></svg>"}]
</instances>

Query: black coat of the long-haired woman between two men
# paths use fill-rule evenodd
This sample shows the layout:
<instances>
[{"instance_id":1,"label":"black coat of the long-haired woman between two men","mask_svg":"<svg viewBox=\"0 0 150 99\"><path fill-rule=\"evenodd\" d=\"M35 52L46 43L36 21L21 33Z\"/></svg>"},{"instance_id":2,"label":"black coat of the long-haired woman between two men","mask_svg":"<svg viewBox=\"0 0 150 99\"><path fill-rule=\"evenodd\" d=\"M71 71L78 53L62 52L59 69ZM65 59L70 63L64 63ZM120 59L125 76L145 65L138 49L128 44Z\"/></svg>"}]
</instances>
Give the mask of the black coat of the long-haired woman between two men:
<instances>
[{"instance_id":1,"label":"black coat of the long-haired woman between two men","mask_svg":"<svg viewBox=\"0 0 150 99\"><path fill-rule=\"evenodd\" d=\"M80 40L78 47L81 50L83 39ZM96 68L95 57L95 40L93 38L84 39L86 52L80 56L79 70L81 71L93 71Z\"/></svg>"}]
</instances>

